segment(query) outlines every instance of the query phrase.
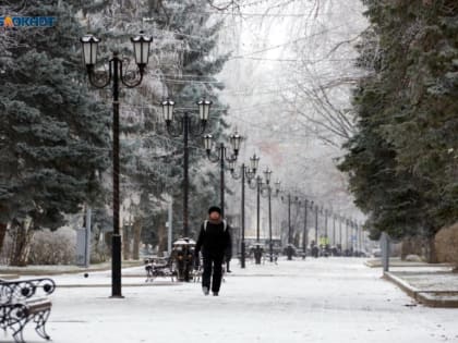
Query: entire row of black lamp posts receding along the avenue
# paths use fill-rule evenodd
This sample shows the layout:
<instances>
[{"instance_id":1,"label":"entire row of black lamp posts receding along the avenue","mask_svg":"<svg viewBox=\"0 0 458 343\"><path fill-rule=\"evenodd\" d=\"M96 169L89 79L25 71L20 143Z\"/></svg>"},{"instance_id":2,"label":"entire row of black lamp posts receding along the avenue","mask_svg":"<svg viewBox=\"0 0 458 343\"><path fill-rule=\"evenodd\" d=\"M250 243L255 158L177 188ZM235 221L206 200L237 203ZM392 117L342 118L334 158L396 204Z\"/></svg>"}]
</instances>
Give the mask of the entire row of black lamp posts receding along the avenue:
<instances>
[{"instance_id":1,"label":"entire row of black lamp posts receding along the avenue","mask_svg":"<svg viewBox=\"0 0 458 343\"><path fill-rule=\"evenodd\" d=\"M108 72L99 72L96 70L97 64L97 50L98 44L100 40L93 35L86 35L81 38L81 42L83 46L83 61L86 66L86 71L88 74L89 83L95 86L96 88L105 88L111 86L112 88L112 162L113 162L113 171L112 171L112 194L113 194L113 234L112 234L112 264L111 264L111 297L122 297L121 292L121 235L120 235L120 199L119 199L119 171L120 171L120 163L119 163L119 150L120 150L120 125L119 125L119 93L121 84L128 88L134 88L138 86L145 74L145 68L148 64L149 59L149 47L150 42L153 41L152 37L146 36L143 32L140 35L132 37L131 41L133 44L133 51L135 57L135 63L137 65L137 71L132 77L132 73L129 73L129 77L126 75L126 63L125 61L120 58L118 51L112 52L112 57L107 61L108 62ZM167 99L162 102L162 114L167 125L167 132L170 136L173 137L183 137L184 144L184 151L183 151L183 235L186 237L189 236L189 136L201 136L206 128L208 118L209 118L209 109L210 109L212 101L203 99L197 102L198 107L198 117L200 122L195 124L191 115L188 111L185 111L180 118L178 118L178 124L173 125L174 117L174 102L170 99ZM220 206L221 211L225 211L225 163L229 163L229 169L231 171L231 175L233 179L241 179L242 184L242 201L241 201L241 230L242 230L242 242L241 242L241 266L242 268L245 267L245 241L244 241L244 232L245 232L245 223L244 223L244 192L245 192L245 182L249 182L249 186L251 188L257 188L257 211L256 211L256 248L260 249L260 199L261 196L266 196L268 198L268 225L269 225L269 255L270 261L273 260L273 241L272 241L272 185L270 185L270 176L272 171L266 170L264 172L265 181L258 175L255 177L255 173L258 169L258 161L260 158L255 155L250 159L250 166L242 164L240 168L240 172L237 173L234 171L234 162L237 160L241 136L238 133L234 133L230 137L230 143L232 147L232 154L228 155L227 147L225 144L220 143L217 154L212 155L212 143L213 137L212 135L206 135L204 138L205 143L205 150L207 152L207 157L210 161L220 164ZM255 183L253 180L256 179ZM276 192L275 196L279 194L279 183L276 183ZM292 242L292 228L291 228L291 203L298 203L298 198L291 199L291 193L287 194L287 197L281 197L285 201L288 201L288 244L290 245ZM304 241L303 241L303 248L305 252L306 248L306 219L308 219L308 200L305 200L305 225L304 225ZM313 201L310 201L311 208L313 209ZM326 210L327 211L327 210ZM317 242L317 215L318 215L318 207L315 206L315 242ZM327 213L326 213L327 215ZM335 217L336 218L336 217ZM327 221L327 216L326 216ZM354 226L354 222L346 220L347 224L347 233L348 233L348 225L351 224ZM335 223L334 223L335 230ZM357 229L358 230L358 229ZM326 224L327 231L327 224ZM357 231L358 232L358 231ZM326 232L327 233L327 232ZM340 233L341 233L341 223L340 223ZM341 234L340 234L341 240ZM290 259L290 255L288 255L288 259ZM261 262L261 254L257 252L256 254L256 264Z\"/></svg>"}]
</instances>

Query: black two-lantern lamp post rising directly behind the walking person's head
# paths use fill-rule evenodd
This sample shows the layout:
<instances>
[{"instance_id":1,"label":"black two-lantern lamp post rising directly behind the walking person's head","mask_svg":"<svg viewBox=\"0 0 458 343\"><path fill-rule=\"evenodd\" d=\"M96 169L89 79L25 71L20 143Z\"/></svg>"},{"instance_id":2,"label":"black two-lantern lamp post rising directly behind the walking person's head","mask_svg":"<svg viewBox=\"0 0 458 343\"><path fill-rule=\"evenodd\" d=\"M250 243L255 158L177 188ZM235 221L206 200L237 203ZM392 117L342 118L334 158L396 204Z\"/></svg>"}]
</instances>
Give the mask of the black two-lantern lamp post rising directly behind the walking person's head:
<instances>
[{"instance_id":1,"label":"black two-lantern lamp post rising directly behind the walking person's head","mask_svg":"<svg viewBox=\"0 0 458 343\"><path fill-rule=\"evenodd\" d=\"M233 154L228 156L227 148L224 143L219 144L218 152L216 156L212 156L212 144L213 144L213 136L206 135L204 137L205 143L205 150L207 152L207 158L213 163L218 163L220 166L220 180L219 180L219 192L220 192L220 207L221 207L221 215L225 216L225 162L231 163L237 161L237 157L240 150L240 142L242 140L242 136L240 136L237 132L230 136L230 144L232 146Z\"/></svg>"}]
</instances>

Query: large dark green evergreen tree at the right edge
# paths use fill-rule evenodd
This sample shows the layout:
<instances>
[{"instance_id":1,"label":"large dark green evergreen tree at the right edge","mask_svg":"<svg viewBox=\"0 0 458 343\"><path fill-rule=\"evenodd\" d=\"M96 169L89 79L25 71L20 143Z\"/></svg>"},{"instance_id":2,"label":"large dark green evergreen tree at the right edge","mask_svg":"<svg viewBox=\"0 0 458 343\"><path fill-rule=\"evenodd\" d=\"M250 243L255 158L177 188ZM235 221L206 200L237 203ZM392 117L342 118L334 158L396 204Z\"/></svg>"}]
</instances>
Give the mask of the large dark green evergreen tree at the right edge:
<instances>
[{"instance_id":1,"label":"large dark green evergreen tree at the right edge","mask_svg":"<svg viewBox=\"0 0 458 343\"><path fill-rule=\"evenodd\" d=\"M359 64L370 73L354 95L359 132L340 168L376 230L431 238L458 216L458 7L364 3L373 34Z\"/></svg>"}]
</instances>

